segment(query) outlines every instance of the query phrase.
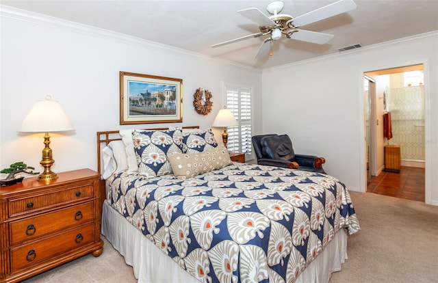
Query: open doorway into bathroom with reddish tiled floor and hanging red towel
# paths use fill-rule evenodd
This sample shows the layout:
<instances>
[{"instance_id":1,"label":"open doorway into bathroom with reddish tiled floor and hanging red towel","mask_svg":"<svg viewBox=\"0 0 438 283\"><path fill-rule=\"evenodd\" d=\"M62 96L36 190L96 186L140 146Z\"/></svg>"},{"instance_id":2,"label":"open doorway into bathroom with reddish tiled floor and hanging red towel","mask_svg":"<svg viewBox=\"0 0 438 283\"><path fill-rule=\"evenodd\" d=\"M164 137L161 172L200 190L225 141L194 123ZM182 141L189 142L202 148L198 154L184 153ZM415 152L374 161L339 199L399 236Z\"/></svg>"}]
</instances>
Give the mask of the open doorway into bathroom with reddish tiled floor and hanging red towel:
<instances>
[{"instance_id":1,"label":"open doorway into bathroom with reddish tiled floor and hanging red towel","mask_svg":"<svg viewBox=\"0 0 438 283\"><path fill-rule=\"evenodd\" d=\"M423 72L423 65L418 64L364 73L368 191L407 199L409 192L404 192L404 189L415 190L416 193L421 191L424 202L426 116ZM388 115L392 135L387 135ZM392 165L388 166L390 159L385 154L386 150L389 152L394 147L400 148L396 170L392 170ZM405 184L406 176L412 176L415 181ZM413 200L418 198L418 195L413 196Z\"/></svg>"}]
</instances>

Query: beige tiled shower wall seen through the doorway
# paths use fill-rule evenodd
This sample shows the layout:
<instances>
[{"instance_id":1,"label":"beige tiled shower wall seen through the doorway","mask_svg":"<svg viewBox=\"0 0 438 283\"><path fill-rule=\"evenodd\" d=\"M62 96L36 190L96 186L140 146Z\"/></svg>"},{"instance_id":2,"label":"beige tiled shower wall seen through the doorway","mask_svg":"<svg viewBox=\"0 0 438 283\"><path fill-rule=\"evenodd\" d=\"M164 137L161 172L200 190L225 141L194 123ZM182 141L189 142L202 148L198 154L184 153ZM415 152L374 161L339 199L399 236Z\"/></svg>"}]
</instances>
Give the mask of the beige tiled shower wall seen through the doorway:
<instances>
[{"instance_id":1,"label":"beige tiled shower wall seen through the doorway","mask_svg":"<svg viewBox=\"0 0 438 283\"><path fill-rule=\"evenodd\" d=\"M392 88L390 145L400 145L401 159L424 161L424 86Z\"/></svg>"}]
</instances>

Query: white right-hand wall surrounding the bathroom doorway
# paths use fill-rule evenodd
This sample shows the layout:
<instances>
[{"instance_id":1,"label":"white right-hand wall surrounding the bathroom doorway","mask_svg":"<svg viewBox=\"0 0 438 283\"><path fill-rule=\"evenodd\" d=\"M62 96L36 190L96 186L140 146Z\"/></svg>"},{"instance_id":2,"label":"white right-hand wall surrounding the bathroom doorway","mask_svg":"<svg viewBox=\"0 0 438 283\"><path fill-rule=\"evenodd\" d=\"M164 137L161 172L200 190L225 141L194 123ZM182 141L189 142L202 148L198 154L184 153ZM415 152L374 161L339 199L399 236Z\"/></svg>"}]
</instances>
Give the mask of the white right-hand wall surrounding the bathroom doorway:
<instances>
[{"instance_id":1,"label":"white right-hand wall surrounding the bathroom doorway","mask_svg":"<svg viewBox=\"0 0 438 283\"><path fill-rule=\"evenodd\" d=\"M263 70L263 132L287 133L297 153L326 157L326 172L365 191L363 72L424 64L426 203L438 205L438 35Z\"/></svg>"}]
</instances>

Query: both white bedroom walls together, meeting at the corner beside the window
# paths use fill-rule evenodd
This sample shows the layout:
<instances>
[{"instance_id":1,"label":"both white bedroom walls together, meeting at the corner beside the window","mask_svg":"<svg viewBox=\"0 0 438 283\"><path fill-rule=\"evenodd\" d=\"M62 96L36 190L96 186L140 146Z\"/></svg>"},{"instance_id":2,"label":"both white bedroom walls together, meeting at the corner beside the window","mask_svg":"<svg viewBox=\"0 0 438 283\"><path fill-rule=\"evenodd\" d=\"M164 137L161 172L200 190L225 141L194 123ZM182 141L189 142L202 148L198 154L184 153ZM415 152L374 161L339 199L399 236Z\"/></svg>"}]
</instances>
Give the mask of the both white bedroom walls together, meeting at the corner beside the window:
<instances>
[{"instance_id":1,"label":"both white bedroom walls together, meeting at the corner beside the window","mask_svg":"<svg viewBox=\"0 0 438 283\"><path fill-rule=\"evenodd\" d=\"M95 170L96 131L122 127L118 121L118 72L123 70L183 79L182 124L201 128L209 127L222 108L222 82L251 85L257 113L254 134L288 133L297 153L326 157L329 174L351 190L365 191L363 72L424 64L426 202L438 205L438 187L432 186L438 183L438 174L431 174L438 170L437 33L263 70L261 74L53 18L3 7L0 12L0 168L16 161L40 167L42 135L16 131L34 103L51 94L76 129L68 135L51 135L56 161L53 171ZM208 116L198 115L192 107L198 87L213 94L214 110Z\"/></svg>"}]
</instances>

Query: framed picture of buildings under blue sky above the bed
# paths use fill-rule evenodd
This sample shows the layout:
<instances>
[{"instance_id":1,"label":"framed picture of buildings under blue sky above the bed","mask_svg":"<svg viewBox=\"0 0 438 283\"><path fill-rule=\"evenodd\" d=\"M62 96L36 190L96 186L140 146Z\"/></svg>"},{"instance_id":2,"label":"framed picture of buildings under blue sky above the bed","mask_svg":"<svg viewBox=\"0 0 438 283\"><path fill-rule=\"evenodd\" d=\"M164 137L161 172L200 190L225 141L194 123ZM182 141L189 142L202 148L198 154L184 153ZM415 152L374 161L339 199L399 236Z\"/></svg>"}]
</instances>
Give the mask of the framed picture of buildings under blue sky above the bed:
<instances>
[{"instance_id":1,"label":"framed picture of buildings under blue sky above the bed","mask_svg":"<svg viewBox=\"0 0 438 283\"><path fill-rule=\"evenodd\" d=\"M183 122L183 80L120 72L120 124Z\"/></svg>"}]
</instances>

